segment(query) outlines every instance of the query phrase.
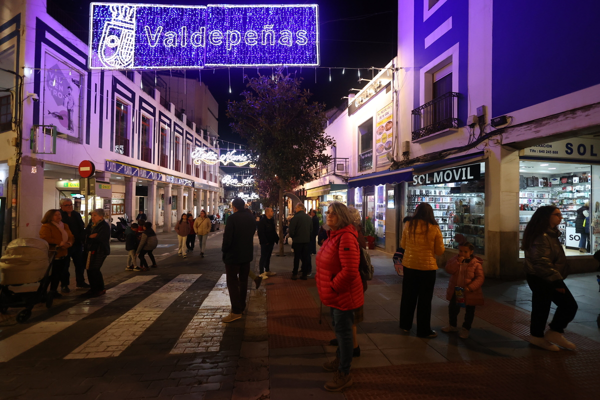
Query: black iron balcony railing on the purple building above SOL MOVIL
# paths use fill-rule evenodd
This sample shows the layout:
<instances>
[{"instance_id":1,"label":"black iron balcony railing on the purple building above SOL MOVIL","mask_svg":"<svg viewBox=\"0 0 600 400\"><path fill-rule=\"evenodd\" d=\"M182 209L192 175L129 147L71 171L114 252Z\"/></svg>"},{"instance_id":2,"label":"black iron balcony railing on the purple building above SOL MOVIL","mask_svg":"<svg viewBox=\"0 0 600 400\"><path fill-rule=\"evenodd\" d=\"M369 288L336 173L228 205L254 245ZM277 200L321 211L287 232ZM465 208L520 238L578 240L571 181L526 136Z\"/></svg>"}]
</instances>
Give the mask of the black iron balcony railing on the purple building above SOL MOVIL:
<instances>
[{"instance_id":1,"label":"black iron balcony railing on the purple building above SOL MOVIL","mask_svg":"<svg viewBox=\"0 0 600 400\"><path fill-rule=\"evenodd\" d=\"M458 128L458 93L448 92L412 110L412 140Z\"/></svg>"}]
</instances>

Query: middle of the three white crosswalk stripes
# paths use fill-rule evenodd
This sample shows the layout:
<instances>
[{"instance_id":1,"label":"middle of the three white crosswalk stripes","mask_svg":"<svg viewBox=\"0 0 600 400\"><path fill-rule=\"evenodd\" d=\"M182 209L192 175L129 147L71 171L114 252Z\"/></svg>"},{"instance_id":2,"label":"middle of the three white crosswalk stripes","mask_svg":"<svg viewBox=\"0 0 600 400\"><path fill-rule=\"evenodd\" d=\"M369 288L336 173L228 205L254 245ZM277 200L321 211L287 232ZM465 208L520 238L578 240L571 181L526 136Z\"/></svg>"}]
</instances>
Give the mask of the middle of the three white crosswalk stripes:
<instances>
[{"instance_id":1,"label":"middle of the three white crosswalk stripes","mask_svg":"<svg viewBox=\"0 0 600 400\"><path fill-rule=\"evenodd\" d=\"M182 274L164 285L109 326L98 332L65 359L115 357L138 338L202 274Z\"/></svg>"}]
</instances>

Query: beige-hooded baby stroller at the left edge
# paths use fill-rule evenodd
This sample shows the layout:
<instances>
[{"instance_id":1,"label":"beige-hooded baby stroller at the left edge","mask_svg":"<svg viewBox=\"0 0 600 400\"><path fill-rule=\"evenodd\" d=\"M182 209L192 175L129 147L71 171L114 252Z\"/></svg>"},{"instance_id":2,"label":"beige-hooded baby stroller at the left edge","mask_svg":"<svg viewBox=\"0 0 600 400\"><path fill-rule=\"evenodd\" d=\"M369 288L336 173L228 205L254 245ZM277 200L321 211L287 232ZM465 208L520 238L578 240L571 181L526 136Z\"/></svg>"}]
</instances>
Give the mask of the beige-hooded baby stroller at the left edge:
<instances>
[{"instance_id":1,"label":"beige-hooded baby stroller at the left edge","mask_svg":"<svg viewBox=\"0 0 600 400\"><path fill-rule=\"evenodd\" d=\"M52 246L54 247L54 246ZM22 237L8 243L0 258L0 312L9 307L25 307L17 314L17 322L25 323L31 317L34 305L46 301L52 306L52 296L47 296L50 270L56 251L46 240Z\"/></svg>"}]
</instances>

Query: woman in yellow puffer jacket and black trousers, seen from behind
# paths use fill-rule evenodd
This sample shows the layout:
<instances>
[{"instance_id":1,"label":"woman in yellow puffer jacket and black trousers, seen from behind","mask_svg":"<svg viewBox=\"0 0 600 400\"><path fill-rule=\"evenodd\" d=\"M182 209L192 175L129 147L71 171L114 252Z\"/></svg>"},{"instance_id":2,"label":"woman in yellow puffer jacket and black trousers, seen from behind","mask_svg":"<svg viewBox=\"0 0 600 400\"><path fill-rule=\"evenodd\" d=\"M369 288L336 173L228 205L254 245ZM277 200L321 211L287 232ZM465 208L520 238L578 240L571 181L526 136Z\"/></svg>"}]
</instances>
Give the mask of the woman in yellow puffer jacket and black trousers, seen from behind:
<instances>
[{"instance_id":1,"label":"woman in yellow puffer jacket and black trousers, seen from behind","mask_svg":"<svg viewBox=\"0 0 600 400\"><path fill-rule=\"evenodd\" d=\"M428 203L416 207L406 222L400 246L404 249L404 278L400 301L400 328L409 332L416 308L416 335L435 338L431 330L431 299L436 283L436 255L443 254L442 232Z\"/></svg>"}]
</instances>

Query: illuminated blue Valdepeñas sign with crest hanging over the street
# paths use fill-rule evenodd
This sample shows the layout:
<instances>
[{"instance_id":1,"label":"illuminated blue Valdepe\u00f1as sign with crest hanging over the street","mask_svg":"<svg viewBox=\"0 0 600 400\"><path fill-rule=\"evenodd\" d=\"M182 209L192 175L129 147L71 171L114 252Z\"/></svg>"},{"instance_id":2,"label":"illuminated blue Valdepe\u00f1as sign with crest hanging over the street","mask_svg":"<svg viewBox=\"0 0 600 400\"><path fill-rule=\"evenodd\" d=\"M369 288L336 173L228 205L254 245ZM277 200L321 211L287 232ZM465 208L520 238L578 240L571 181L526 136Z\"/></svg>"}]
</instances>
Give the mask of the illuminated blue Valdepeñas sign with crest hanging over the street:
<instances>
[{"instance_id":1,"label":"illuminated blue Valdepe\u00f1as sign with crest hanging over the street","mask_svg":"<svg viewBox=\"0 0 600 400\"><path fill-rule=\"evenodd\" d=\"M90 5L89 68L319 65L308 5Z\"/></svg>"}]
</instances>

